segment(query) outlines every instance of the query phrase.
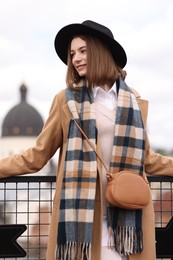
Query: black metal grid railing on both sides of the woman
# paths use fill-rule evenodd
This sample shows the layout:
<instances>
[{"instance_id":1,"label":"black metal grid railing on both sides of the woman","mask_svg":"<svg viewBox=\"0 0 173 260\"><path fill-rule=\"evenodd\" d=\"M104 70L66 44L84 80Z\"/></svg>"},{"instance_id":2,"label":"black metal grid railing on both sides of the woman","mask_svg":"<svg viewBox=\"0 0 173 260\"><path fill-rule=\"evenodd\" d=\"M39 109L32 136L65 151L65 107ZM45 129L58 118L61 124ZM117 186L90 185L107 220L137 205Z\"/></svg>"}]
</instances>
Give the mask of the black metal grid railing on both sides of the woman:
<instances>
[{"instance_id":1,"label":"black metal grid railing on both sides of the woman","mask_svg":"<svg viewBox=\"0 0 173 260\"><path fill-rule=\"evenodd\" d=\"M173 178L148 179L155 209L155 225L165 227L173 216ZM25 175L0 179L0 224L27 226L27 230L18 238L18 243L27 253L26 257L20 259L45 260L55 181L55 176Z\"/></svg>"}]
</instances>

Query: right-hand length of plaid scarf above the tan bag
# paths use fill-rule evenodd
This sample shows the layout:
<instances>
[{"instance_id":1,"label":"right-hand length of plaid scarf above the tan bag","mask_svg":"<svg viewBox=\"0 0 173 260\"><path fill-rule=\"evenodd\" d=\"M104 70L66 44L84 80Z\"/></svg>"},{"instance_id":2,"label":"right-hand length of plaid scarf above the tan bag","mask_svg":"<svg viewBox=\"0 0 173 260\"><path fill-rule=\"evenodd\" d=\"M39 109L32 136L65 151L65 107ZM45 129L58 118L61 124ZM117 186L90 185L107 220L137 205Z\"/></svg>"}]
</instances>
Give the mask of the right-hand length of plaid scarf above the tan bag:
<instances>
[{"instance_id":1,"label":"right-hand length of plaid scarf above the tan bag","mask_svg":"<svg viewBox=\"0 0 173 260\"><path fill-rule=\"evenodd\" d=\"M134 170L143 173L145 130L137 100L122 81L118 93L111 172Z\"/></svg>"}]
</instances>

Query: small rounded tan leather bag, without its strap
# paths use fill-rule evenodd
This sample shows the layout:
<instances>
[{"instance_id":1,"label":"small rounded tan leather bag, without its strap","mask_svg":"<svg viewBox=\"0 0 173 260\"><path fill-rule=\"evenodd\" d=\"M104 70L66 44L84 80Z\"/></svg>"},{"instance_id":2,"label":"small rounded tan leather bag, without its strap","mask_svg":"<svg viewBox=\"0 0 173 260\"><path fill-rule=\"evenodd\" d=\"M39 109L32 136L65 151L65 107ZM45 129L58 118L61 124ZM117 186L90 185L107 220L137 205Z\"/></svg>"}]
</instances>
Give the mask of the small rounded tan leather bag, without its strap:
<instances>
[{"instance_id":1,"label":"small rounded tan leather bag, without its strap","mask_svg":"<svg viewBox=\"0 0 173 260\"><path fill-rule=\"evenodd\" d=\"M107 178L106 199L111 205L135 210L149 203L149 185L143 176L127 170L110 174Z\"/></svg>"}]
</instances>

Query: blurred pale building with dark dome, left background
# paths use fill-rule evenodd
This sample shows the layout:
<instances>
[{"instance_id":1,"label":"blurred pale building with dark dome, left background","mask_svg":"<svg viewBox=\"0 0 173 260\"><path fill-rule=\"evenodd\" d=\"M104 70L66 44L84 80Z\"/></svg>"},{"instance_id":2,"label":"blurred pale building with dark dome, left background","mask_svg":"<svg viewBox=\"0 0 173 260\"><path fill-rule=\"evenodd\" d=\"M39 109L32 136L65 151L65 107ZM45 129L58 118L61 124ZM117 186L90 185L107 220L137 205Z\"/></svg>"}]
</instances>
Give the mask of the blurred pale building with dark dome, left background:
<instances>
[{"instance_id":1,"label":"blurred pale building with dark dome, left background","mask_svg":"<svg viewBox=\"0 0 173 260\"><path fill-rule=\"evenodd\" d=\"M19 90L19 104L9 110L2 122L0 157L22 153L33 146L44 124L40 113L27 102L27 87L22 84ZM46 168L47 173L51 171L54 174L52 161Z\"/></svg>"}]
</instances>

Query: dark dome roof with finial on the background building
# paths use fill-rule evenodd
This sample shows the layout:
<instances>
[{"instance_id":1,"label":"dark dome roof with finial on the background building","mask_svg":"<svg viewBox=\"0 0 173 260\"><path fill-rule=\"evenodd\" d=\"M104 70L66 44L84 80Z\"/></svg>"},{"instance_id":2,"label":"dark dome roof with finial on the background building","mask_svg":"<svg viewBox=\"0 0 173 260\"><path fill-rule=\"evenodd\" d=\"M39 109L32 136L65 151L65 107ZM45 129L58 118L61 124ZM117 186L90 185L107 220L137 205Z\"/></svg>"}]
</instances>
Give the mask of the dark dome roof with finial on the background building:
<instances>
[{"instance_id":1,"label":"dark dome roof with finial on the background building","mask_svg":"<svg viewBox=\"0 0 173 260\"><path fill-rule=\"evenodd\" d=\"M2 137L38 136L43 119L38 111L26 102L27 87L20 87L21 101L7 113L2 123Z\"/></svg>"}]
</instances>

